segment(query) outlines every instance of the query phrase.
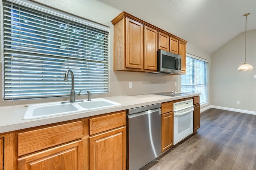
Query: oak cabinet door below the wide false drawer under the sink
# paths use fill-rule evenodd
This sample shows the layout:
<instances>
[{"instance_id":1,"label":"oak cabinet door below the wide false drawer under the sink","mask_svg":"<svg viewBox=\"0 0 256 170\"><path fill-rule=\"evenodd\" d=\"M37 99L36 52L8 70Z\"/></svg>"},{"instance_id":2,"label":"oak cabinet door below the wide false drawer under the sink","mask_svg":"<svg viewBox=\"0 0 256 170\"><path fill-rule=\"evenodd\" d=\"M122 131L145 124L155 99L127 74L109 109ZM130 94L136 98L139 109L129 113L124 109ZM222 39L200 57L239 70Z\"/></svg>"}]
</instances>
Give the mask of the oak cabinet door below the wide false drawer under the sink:
<instances>
[{"instance_id":1,"label":"oak cabinet door below the wide false drawer under the sink","mask_svg":"<svg viewBox=\"0 0 256 170\"><path fill-rule=\"evenodd\" d=\"M18 159L19 170L80 170L82 140L24 156Z\"/></svg>"}]
</instances>

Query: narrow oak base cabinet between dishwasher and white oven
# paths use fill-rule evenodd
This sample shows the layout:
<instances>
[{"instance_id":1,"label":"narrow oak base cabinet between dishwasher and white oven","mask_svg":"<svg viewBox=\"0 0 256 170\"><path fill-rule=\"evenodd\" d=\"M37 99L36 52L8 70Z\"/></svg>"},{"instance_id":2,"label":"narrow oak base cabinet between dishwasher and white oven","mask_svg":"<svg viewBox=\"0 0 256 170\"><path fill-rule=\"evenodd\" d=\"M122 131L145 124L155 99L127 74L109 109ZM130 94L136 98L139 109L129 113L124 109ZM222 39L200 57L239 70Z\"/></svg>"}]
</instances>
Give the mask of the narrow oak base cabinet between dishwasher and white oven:
<instances>
[{"instance_id":1,"label":"narrow oak base cabinet between dishwasher and white oven","mask_svg":"<svg viewBox=\"0 0 256 170\"><path fill-rule=\"evenodd\" d=\"M162 152L173 146L173 102L164 102L161 106Z\"/></svg>"}]
</instances>

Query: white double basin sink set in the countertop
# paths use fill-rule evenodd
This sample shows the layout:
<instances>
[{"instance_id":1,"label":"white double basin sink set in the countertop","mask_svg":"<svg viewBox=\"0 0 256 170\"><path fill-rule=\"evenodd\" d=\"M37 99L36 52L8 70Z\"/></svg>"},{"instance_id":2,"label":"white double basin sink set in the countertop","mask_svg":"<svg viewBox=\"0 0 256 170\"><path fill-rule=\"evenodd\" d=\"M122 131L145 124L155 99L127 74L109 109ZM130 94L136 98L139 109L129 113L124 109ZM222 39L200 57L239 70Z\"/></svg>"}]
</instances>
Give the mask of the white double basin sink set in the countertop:
<instances>
[{"instance_id":1,"label":"white double basin sink set in the countertop","mask_svg":"<svg viewBox=\"0 0 256 170\"><path fill-rule=\"evenodd\" d=\"M108 107L120 106L121 104L98 98L91 101L64 103L52 102L48 104L33 104L28 106L23 120L38 119L56 115L77 113L80 111L92 111Z\"/></svg>"}]
</instances>

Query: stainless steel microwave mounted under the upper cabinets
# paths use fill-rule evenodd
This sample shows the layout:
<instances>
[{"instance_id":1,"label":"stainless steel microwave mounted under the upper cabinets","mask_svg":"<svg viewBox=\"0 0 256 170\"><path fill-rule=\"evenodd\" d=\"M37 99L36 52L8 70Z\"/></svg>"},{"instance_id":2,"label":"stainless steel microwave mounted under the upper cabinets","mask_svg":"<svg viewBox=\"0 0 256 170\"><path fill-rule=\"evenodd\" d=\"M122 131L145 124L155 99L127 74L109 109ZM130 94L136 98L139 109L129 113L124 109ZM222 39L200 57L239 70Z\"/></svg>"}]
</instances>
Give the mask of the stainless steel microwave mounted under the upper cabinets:
<instances>
[{"instance_id":1,"label":"stainless steel microwave mounted under the upper cabinets","mask_svg":"<svg viewBox=\"0 0 256 170\"><path fill-rule=\"evenodd\" d=\"M164 50L157 51L157 71L155 74L180 74L181 56Z\"/></svg>"}]
</instances>

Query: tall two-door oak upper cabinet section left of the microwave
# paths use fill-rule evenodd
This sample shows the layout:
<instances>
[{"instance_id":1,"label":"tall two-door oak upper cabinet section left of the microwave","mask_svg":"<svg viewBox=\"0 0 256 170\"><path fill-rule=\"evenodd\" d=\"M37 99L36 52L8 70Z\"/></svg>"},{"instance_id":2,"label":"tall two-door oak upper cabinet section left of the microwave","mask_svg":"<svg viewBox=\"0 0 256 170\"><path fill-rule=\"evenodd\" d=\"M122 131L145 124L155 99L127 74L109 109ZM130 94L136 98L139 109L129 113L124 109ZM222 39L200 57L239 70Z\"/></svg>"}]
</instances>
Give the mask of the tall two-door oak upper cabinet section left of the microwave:
<instances>
[{"instance_id":1,"label":"tall two-door oak upper cabinet section left of the microwave","mask_svg":"<svg viewBox=\"0 0 256 170\"><path fill-rule=\"evenodd\" d=\"M127 17L115 23L114 70L156 70L156 53L155 29Z\"/></svg>"}]
</instances>

